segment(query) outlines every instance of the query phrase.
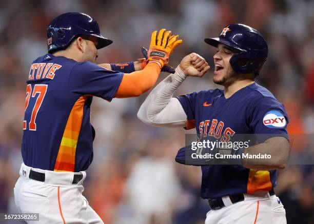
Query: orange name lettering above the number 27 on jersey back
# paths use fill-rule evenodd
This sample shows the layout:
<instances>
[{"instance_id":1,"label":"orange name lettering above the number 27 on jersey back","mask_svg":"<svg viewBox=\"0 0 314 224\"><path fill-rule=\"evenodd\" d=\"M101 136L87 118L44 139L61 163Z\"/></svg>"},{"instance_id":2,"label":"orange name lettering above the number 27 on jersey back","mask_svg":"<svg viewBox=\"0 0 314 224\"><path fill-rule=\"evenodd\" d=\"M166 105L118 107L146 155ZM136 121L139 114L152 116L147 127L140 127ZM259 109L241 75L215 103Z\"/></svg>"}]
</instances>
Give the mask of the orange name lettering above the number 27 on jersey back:
<instances>
[{"instance_id":1,"label":"orange name lettering above the number 27 on jersey back","mask_svg":"<svg viewBox=\"0 0 314 224\"><path fill-rule=\"evenodd\" d=\"M54 78L54 72L62 66L54 63L34 63L31 65L28 80Z\"/></svg>"}]
</instances>

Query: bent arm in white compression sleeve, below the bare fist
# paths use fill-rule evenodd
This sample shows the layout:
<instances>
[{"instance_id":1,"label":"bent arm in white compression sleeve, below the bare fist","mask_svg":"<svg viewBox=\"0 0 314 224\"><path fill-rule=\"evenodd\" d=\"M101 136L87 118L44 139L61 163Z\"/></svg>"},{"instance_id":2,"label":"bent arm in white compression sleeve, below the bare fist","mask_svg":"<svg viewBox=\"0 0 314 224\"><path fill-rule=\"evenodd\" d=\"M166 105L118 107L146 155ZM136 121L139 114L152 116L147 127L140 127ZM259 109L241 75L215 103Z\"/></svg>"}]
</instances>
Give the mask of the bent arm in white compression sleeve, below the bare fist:
<instances>
[{"instance_id":1,"label":"bent arm in white compression sleeve, below the bare fist","mask_svg":"<svg viewBox=\"0 0 314 224\"><path fill-rule=\"evenodd\" d=\"M147 96L138 118L144 123L158 127L184 127L187 116L173 93L185 80L186 75L178 67L174 74L165 78Z\"/></svg>"}]
</instances>

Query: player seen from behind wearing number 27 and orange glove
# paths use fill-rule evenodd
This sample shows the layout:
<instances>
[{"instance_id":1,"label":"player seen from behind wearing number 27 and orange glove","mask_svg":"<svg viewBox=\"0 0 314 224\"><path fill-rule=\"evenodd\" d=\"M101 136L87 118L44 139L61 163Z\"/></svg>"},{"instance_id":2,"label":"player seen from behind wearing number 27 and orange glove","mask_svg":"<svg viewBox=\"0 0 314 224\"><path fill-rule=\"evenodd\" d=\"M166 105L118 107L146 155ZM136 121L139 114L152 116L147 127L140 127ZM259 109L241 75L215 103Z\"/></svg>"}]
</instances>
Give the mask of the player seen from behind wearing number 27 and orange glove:
<instances>
[{"instance_id":1,"label":"player seen from behind wearing number 27 and orange glove","mask_svg":"<svg viewBox=\"0 0 314 224\"><path fill-rule=\"evenodd\" d=\"M99 66L97 49L112 40L100 34L95 19L84 13L53 19L48 53L34 60L27 80L24 163L14 188L19 212L39 213L40 223L103 223L82 195L84 171L93 159L92 97L111 101L150 89L182 43L178 38L154 31L143 70L139 62Z\"/></svg>"}]
</instances>

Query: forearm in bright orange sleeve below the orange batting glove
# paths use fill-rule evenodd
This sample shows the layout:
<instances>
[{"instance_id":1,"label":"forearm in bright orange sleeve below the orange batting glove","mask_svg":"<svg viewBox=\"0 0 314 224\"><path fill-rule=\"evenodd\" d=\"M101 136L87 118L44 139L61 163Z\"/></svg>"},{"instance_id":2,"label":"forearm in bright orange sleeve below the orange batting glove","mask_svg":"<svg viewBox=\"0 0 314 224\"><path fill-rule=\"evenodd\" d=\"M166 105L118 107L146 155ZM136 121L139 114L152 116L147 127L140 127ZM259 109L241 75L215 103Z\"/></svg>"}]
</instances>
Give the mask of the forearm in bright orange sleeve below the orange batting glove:
<instances>
[{"instance_id":1,"label":"forearm in bright orange sleeve below the orange batting glove","mask_svg":"<svg viewBox=\"0 0 314 224\"><path fill-rule=\"evenodd\" d=\"M156 83L160 71L156 63L149 63L141 71L125 73L115 97L127 98L143 94Z\"/></svg>"}]
</instances>

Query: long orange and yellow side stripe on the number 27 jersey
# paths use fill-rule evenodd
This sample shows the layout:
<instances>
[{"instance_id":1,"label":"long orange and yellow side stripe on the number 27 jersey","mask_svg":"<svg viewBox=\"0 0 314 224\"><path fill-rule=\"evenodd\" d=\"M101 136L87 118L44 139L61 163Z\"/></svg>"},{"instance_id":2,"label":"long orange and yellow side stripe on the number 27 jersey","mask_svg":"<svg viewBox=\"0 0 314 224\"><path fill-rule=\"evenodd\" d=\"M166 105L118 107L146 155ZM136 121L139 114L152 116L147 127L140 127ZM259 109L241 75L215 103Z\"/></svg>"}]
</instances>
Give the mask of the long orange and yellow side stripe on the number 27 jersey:
<instances>
[{"instance_id":1,"label":"long orange and yellow side stripe on the number 27 jersey","mask_svg":"<svg viewBox=\"0 0 314 224\"><path fill-rule=\"evenodd\" d=\"M87 96L78 98L71 110L61 139L54 171L74 172L76 145L81 130L83 108L86 99Z\"/></svg>"}]
</instances>

